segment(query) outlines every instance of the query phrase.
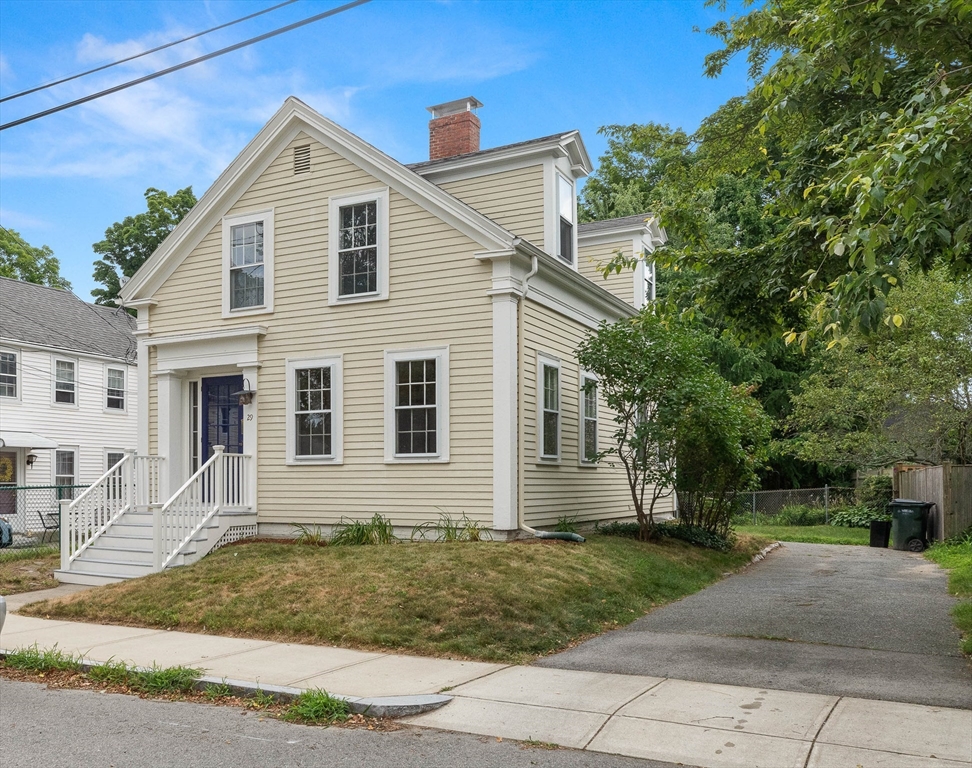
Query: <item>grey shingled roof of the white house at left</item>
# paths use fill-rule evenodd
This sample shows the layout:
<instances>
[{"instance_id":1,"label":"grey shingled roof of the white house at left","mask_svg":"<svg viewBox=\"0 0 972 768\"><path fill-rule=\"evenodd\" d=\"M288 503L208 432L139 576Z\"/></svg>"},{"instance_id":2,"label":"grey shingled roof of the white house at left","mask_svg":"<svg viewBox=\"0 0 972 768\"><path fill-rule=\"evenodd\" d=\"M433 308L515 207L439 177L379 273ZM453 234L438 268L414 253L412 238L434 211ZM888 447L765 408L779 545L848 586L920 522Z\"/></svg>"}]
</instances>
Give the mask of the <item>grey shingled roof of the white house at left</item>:
<instances>
[{"instance_id":1,"label":"grey shingled roof of the white house at left","mask_svg":"<svg viewBox=\"0 0 972 768\"><path fill-rule=\"evenodd\" d=\"M135 318L70 291L0 277L0 338L135 361Z\"/></svg>"}]
</instances>

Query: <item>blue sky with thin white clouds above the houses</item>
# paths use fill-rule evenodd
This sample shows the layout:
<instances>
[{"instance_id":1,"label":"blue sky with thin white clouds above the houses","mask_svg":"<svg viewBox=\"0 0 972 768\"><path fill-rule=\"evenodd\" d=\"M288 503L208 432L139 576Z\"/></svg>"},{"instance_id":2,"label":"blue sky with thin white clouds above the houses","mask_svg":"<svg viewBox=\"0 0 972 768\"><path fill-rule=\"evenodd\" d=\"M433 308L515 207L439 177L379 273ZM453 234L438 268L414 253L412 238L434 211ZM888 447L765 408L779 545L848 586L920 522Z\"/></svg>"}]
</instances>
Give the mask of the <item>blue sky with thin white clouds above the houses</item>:
<instances>
[{"instance_id":1,"label":"blue sky with thin white clouds above the houses","mask_svg":"<svg viewBox=\"0 0 972 768\"><path fill-rule=\"evenodd\" d=\"M274 0L0 0L0 94L90 69ZM106 72L0 105L0 122L171 66L340 3L300 0ZM738 12L738 6L737 6ZM425 107L484 103L482 146L611 123L693 129L745 92L702 73L724 18L703 0L376 0L272 40L0 134L0 224L60 259L90 299L91 244L148 187L197 196L295 95L402 162L428 155Z\"/></svg>"}]
</instances>

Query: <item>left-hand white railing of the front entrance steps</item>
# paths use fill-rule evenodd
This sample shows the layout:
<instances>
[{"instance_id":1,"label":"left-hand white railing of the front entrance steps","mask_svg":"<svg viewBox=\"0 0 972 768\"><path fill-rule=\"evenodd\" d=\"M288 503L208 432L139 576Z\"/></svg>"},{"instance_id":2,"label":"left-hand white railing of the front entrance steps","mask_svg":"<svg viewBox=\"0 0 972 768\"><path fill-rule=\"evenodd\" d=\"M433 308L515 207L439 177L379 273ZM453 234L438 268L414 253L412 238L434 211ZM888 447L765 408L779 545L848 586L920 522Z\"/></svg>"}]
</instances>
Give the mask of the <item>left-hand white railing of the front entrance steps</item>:
<instances>
[{"instance_id":1,"label":"left-hand white railing of the front entrance steps","mask_svg":"<svg viewBox=\"0 0 972 768\"><path fill-rule=\"evenodd\" d=\"M67 570L115 520L132 508L136 496L135 461L134 453L126 453L76 499L61 502L62 569Z\"/></svg>"}]
</instances>

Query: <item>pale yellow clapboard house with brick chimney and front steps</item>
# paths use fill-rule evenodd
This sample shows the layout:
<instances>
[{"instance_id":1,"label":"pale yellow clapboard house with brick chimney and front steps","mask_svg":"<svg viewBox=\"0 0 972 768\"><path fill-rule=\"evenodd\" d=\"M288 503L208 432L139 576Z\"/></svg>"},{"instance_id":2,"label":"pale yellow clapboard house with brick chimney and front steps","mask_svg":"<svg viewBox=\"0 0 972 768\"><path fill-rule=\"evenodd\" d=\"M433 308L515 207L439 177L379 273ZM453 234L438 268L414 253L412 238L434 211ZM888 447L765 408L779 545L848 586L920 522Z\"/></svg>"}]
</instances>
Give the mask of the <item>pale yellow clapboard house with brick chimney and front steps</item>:
<instances>
[{"instance_id":1,"label":"pale yellow clapboard house with brick chimney and front steps","mask_svg":"<svg viewBox=\"0 0 972 768\"><path fill-rule=\"evenodd\" d=\"M664 233L577 226L579 133L480 150L479 106L430 108L431 159L405 166L287 99L122 290L139 455L67 510L59 578L376 513L497 539L633 515L590 460L613 423L574 350L653 295L650 267L595 262Z\"/></svg>"}]
</instances>

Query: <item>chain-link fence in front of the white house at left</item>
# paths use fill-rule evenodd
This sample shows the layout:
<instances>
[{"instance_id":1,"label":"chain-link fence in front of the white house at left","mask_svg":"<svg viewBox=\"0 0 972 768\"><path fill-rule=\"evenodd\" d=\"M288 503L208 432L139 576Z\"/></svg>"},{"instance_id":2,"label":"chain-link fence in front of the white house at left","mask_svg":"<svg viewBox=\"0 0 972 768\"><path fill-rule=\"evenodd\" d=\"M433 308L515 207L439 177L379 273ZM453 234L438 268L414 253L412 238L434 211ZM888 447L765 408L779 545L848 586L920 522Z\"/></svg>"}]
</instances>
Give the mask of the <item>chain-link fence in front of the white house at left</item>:
<instances>
[{"instance_id":1,"label":"chain-link fence in front of the white house at left","mask_svg":"<svg viewBox=\"0 0 972 768\"><path fill-rule=\"evenodd\" d=\"M0 562L55 554L61 547L61 499L86 485L0 486Z\"/></svg>"}]
</instances>

